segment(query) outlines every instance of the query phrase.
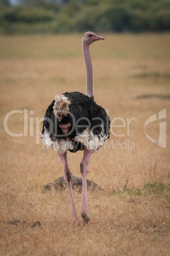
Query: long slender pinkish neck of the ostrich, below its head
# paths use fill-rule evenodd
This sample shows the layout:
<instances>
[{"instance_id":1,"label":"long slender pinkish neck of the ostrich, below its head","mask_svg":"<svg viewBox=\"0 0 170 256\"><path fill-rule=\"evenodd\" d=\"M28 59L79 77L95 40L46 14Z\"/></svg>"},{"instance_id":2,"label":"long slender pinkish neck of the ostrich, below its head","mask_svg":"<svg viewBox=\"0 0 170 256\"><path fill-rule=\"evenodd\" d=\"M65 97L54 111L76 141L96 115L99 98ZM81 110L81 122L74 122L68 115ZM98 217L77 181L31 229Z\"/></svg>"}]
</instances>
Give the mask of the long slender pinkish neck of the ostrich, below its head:
<instances>
[{"instance_id":1,"label":"long slender pinkish neck of the ostrich, below its head","mask_svg":"<svg viewBox=\"0 0 170 256\"><path fill-rule=\"evenodd\" d=\"M84 63L86 68L86 95L94 99L93 88L93 65L91 62L91 55L89 52L89 44L82 39L82 54L84 57Z\"/></svg>"}]
</instances>

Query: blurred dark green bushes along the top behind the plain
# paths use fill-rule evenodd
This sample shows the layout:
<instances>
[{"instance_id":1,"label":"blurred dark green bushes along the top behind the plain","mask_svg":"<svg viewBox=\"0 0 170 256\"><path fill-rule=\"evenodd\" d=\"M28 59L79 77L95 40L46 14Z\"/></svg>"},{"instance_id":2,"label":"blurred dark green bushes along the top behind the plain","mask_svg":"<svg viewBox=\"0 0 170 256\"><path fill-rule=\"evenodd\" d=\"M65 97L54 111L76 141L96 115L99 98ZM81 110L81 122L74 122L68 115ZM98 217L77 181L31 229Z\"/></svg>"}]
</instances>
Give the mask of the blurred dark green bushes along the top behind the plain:
<instances>
[{"instance_id":1,"label":"blurred dark green bushes along the top behind the plain","mask_svg":"<svg viewBox=\"0 0 170 256\"><path fill-rule=\"evenodd\" d=\"M18 0L15 6L10 0L0 3L1 33L170 29L170 2L165 0Z\"/></svg>"}]
</instances>

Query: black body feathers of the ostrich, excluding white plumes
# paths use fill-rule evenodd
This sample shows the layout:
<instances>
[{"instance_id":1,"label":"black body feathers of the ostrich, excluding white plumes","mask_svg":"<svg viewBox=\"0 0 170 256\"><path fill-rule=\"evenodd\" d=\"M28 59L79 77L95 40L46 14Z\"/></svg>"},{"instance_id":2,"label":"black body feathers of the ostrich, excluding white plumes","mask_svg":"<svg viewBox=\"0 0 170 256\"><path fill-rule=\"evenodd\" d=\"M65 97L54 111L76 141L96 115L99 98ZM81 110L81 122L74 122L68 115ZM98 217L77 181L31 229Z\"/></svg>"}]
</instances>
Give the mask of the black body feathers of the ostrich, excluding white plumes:
<instances>
[{"instance_id":1,"label":"black body feathers of the ostrich, excluding white plumes","mask_svg":"<svg viewBox=\"0 0 170 256\"><path fill-rule=\"evenodd\" d=\"M75 142L74 139L75 136L79 136L87 127L95 136L103 136L102 134L105 134L105 136L109 137L110 120L101 106L81 92L66 92L63 96L67 97L71 103L69 104L68 115L59 121L53 112L53 106L55 104L55 101L53 101L46 110L42 134L44 134L46 129L53 141L56 138L72 141L74 150L70 150L70 152L83 150L84 145ZM59 126L60 124L71 124L67 134L63 134Z\"/></svg>"}]
</instances>

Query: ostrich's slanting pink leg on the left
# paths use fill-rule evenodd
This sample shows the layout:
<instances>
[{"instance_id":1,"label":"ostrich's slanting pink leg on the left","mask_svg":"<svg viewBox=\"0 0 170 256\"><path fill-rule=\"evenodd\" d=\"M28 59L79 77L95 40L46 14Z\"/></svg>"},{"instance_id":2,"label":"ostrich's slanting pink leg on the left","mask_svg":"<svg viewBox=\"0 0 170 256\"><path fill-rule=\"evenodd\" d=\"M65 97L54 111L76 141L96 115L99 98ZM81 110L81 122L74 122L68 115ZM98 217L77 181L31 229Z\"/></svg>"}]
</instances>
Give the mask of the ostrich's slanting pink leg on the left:
<instances>
[{"instance_id":1,"label":"ostrich's slanting pink leg on the left","mask_svg":"<svg viewBox=\"0 0 170 256\"><path fill-rule=\"evenodd\" d=\"M60 159L62 160L63 168L64 168L64 180L67 182L67 187L69 188L69 195L70 195L70 201L72 205L72 214L73 214L73 221L79 222L79 217L77 215L77 211L75 210L75 204L74 204L74 198L72 194L72 173L70 172L68 163L67 163L67 152L58 153Z\"/></svg>"}]
</instances>

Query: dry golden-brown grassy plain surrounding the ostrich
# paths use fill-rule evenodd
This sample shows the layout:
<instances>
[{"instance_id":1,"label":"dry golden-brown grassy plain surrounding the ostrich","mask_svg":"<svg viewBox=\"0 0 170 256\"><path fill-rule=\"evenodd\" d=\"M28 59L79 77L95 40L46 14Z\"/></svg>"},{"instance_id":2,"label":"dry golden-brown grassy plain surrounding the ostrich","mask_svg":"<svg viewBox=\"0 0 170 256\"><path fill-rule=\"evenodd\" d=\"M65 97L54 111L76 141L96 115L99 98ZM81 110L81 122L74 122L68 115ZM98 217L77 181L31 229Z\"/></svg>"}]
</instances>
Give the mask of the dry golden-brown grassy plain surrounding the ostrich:
<instances>
[{"instance_id":1,"label":"dry golden-brown grassy plain surrounding the ostrich","mask_svg":"<svg viewBox=\"0 0 170 256\"><path fill-rule=\"evenodd\" d=\"M56 94L86 93L82 35L0 37L1 255L169 255L170 34L101 36L105 41L91 45L95 100L112 130L90 161L88 179L103 190L88 192L89 225L72 225L67 191L42 193L63 167L39 134ZM156 114L146 132L159 139L164 109L166 148L145 135L146 120ZM12 110L20 113L8 118L8 129L25 136L4 131ZM81 176L81 158L69 153L74 176ZM80 216L81 194L74 198Z\"/></svg>"}]
</instances>

